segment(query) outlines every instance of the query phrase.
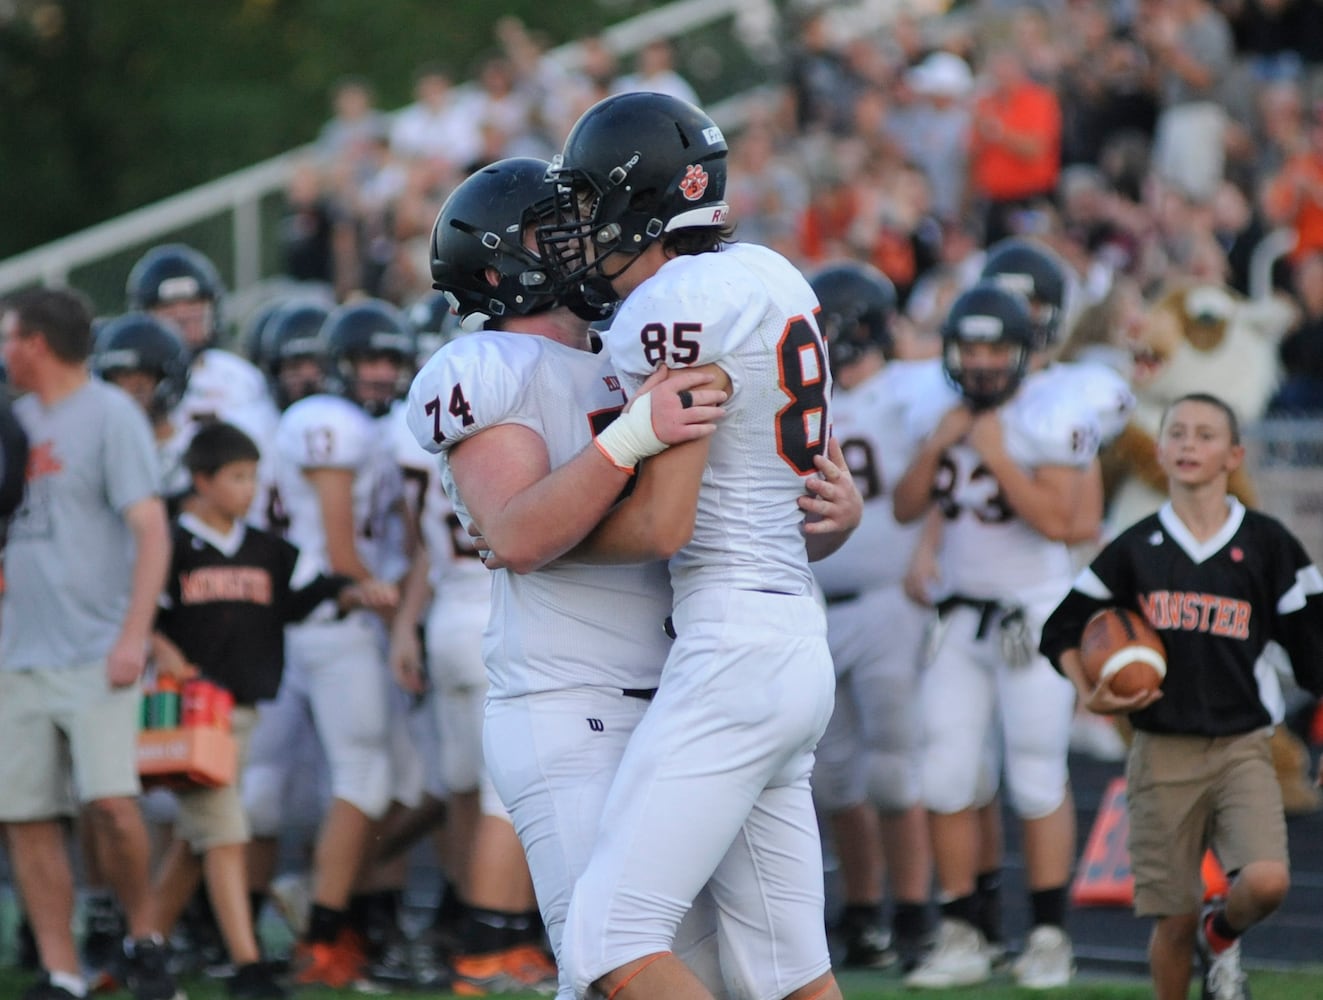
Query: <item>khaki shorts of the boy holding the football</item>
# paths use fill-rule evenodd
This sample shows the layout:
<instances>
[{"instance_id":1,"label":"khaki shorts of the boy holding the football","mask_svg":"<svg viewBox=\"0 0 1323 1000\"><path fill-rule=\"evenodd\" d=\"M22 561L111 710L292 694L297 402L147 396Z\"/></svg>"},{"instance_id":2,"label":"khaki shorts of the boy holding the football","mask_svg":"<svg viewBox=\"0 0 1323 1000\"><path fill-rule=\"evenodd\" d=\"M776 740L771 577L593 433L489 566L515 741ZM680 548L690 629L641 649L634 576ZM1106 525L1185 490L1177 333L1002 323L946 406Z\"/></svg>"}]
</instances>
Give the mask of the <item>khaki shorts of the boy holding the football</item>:
<instances>
[{"instance_id":1,"label":"khaki shorts of the boy holding the football","mask_svg":"<svg viewBox=\"0 0 1323 1000\"><path fill-rule=\"evenodd\" d=\"M1287 864L1270 730L1233 737L1135 733L1126 765L1135 914L1199 913L1209 848L1228 873Z\"/></svg>"}]
</instances>

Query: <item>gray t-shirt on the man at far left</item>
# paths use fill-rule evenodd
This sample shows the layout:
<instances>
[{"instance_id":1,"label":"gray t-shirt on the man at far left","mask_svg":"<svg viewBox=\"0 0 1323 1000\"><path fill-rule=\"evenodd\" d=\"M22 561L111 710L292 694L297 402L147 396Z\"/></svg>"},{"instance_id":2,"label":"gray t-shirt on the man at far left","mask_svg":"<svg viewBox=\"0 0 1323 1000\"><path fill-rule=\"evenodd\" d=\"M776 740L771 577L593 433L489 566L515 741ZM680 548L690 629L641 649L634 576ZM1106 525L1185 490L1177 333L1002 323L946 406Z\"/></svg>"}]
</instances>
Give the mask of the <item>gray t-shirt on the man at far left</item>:
<instances>
[{"instance_id":1,"label":"gray t-shirt on the man at far left","mask_svg":"<svg viewBox=\"0 0 1323 1000\"><path fill-rule=\"evenodd\" d=\"M160 483L151 426L99 380L46 409L15 403L28 433L28 493L9 522L0 604L0 669L105 659L132 589L134 536L123 512Z\"/></svg>"}]
</instances>

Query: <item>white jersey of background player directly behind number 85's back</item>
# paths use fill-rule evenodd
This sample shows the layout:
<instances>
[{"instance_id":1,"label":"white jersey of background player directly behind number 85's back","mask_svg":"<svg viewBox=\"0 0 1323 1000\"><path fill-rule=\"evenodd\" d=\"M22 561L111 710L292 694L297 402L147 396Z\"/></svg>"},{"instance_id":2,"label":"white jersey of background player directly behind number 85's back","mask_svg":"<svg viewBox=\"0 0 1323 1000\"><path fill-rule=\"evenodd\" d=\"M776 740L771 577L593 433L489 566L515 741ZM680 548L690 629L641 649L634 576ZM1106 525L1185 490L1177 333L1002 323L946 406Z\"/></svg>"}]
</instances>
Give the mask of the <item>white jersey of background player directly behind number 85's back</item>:
<instances>
[{"instance_id":1,"label":"white jersey of background player directly behind number 85's back","mask_svg":"<svg viewBox=\"0 0 1323 1000\"><path fill-rule=\"evenodd\" d=\"M913 456L905 433L912 393L930 365L890 361L867 382L831 399L832 433L845 455L855 485L864 497L864 519L839 550L812 565L828 597L898 583L905 575L919 524L900 524L892 513L892 488Z\"/></svg>"}]
</instances>

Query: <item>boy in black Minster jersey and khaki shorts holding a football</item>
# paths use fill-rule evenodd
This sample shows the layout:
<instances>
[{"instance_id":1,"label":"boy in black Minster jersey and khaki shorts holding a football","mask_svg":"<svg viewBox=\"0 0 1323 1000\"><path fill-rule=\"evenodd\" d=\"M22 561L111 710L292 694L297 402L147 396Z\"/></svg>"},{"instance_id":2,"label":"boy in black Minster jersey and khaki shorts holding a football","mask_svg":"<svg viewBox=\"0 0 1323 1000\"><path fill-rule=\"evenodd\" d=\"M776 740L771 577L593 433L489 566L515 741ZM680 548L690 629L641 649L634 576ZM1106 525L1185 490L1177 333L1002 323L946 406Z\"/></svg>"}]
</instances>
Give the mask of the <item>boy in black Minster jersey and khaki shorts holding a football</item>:
<instances>
[{"instance_id":1,"label":"boy in black Minster jersey and khaki shorts holding a football","mask_svg":"<svg viewBox=\"0 0 1323 1000\"><path fill-rule=\"evenodd\" d=\"M1170 503L1107 545L1043 628L1041 651L1090 710L1131 713L1130 856L1135 913L1156 921L1158 1000L1185 997L1196 946L1204 997L1249 996L1240 935L1290 886L1273 720L1254 675L1263 647L1279 643L1301 687L1323 694L1323 577L1285 526L1226 495L1244 454L1225 402L1195 393L1172 403L1158 439ZM1080 632L1109 606L1140 612L1163 638L1158 692L1123 698L1085 680ZM1209 847L1232 885L1200 913Z\"/></svg>"}]
</instances>

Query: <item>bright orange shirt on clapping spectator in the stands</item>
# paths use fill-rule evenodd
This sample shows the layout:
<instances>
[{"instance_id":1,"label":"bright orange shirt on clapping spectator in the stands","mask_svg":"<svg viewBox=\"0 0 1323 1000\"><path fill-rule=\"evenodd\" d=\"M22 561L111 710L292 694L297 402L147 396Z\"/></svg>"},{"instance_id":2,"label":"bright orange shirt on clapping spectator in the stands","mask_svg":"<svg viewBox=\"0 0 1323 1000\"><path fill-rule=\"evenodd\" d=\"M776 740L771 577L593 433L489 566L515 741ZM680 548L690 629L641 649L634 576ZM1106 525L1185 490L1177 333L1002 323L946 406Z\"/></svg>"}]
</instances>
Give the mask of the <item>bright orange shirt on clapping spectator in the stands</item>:
<instances>
[{"instance_id":1,"label":"bright orange shirt on clapping spectator in the stands","mask_svg":"<svg viewBox=\"0 0 1323 1000\"><path fill-rule=\"evenodd\" d=\"M970 175L974 189L992 201L1044 194L1061 173L1061 106L1048 87L1027 82L1009 94L988 94L974 106L970 135ZM1041 148L1020 156L1003 143L986 139L979 123L999 122L1012 135L1037 135Z\"/></svg>"}]
</instances>

